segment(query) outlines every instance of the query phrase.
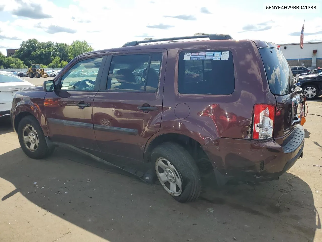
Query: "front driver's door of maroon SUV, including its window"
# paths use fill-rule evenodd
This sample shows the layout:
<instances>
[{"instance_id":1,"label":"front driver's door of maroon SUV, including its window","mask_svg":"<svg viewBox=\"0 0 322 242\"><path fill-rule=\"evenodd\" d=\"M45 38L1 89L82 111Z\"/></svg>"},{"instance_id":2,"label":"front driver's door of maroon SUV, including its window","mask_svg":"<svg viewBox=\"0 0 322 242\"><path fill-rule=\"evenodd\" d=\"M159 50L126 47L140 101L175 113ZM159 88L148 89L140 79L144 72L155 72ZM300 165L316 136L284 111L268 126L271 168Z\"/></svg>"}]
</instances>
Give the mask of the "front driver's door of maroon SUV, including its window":
<instances>
[{"instance_id":1,"label":"front driver's door of maroon SUV, including its window","mask_svg":"<svg viewBox=\"0 0 322 242\"><path fill-rule=\"evenodd\" d=\"M99 150L92 114L102 60L92 57L76 62L59 77L55 91L46 94L45 117L52 141Z\"/></svg>"}]
</instances>

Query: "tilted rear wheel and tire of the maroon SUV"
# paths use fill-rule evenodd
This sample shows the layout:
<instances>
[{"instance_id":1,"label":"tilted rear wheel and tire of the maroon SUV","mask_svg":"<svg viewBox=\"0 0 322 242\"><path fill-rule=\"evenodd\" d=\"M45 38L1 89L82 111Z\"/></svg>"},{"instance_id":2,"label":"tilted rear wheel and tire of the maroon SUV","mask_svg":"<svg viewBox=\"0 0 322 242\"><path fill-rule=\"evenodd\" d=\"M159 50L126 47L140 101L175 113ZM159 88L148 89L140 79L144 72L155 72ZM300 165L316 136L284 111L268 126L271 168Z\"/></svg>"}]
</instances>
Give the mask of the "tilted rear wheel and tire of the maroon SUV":
<instances>
[{"instance_id":1,"label":"tilted rear wheel and tire of the maroon SUV","mask_svg":"<svg viewBox=\"0 0 322 242\"><path fill-rule=\"evenodd\" d=\"M201 192L199 170L193 157L184 147L177 143L165 142L154 148L151 161L155 164L159 182L175 200L184 203L199 197ZM181 181L181 192L179 181ZM171 186L175 187L172 192Z\"/></svg>"}]
</instances>

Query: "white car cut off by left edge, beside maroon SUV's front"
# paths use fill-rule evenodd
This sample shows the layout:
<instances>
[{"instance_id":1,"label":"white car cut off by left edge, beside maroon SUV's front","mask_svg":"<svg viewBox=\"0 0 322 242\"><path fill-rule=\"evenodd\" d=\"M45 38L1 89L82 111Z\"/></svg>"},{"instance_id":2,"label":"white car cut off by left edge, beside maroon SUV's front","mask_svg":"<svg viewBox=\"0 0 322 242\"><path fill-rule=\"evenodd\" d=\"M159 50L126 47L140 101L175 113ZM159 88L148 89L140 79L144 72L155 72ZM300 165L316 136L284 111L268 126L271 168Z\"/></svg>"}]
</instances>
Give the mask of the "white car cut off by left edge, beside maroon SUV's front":
<instances>
[{"instance_id":1,"label":"white car cut off by left edge, beside maroon SUV's front","mask_svg":"<svg viewBox=\"0 0 322 242\"><path fill-rule=\"evenodd\" d=\"M10 116L12 99L16 91L35 86L20 76L7 71L0 71L0 118Z\"/></svg>"}]
</instances>

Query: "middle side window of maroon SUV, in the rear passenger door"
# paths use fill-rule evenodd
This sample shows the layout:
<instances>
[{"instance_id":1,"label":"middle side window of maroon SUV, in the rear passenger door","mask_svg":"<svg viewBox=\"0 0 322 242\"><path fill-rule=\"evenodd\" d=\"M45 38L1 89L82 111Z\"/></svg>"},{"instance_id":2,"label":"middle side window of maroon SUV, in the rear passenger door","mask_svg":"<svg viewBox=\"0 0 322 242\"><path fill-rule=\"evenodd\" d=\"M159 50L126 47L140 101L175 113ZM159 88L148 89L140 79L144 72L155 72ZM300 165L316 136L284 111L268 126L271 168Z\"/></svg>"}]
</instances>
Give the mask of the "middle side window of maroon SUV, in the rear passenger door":
<instances>
[{"instance_id":1,"label":"middle side window of maroon SUV, in the rear passenger door","mask_svg":"<svg viewBox=\"0 0 322 242\"><path fill-rule=\"evenodd\" d=\"M161 60L161 53L113 56L106 89L115 92L156 92Z\"/></svg>"}]
</instances>

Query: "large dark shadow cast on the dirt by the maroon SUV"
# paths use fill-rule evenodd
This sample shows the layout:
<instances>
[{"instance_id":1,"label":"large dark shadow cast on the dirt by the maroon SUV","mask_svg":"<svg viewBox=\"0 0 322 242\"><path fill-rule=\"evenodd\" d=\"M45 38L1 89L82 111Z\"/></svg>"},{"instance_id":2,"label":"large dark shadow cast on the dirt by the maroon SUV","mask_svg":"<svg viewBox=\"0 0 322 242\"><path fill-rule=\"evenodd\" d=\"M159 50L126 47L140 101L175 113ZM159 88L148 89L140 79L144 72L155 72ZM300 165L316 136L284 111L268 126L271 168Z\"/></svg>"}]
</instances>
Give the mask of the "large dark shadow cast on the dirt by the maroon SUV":
<instances>
[{"instance_id":1,"label":"large dark shadow cast on the dirt by the maroon SUV","mask_svg":"<svg viewBox=\"0 0 322 242\"><path fill-rule=\"evenodd\" d=\"M278 181L221 189L210 182L198 201L181 204L161 186L117 172L63 147L43 160L30 159L17 148L0 155L0 177L15 188L1 200L11 199L14 206L14 196L21 193L111 242L313 241L321 227L312 191L298 177L289 180L294 190L275 206L283 194L279 189L290 188L286 181L291 173Z\"/></svg>"}]
</instances>

